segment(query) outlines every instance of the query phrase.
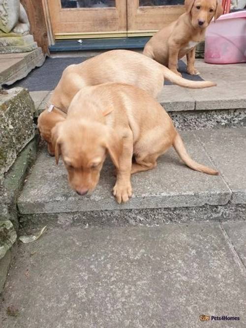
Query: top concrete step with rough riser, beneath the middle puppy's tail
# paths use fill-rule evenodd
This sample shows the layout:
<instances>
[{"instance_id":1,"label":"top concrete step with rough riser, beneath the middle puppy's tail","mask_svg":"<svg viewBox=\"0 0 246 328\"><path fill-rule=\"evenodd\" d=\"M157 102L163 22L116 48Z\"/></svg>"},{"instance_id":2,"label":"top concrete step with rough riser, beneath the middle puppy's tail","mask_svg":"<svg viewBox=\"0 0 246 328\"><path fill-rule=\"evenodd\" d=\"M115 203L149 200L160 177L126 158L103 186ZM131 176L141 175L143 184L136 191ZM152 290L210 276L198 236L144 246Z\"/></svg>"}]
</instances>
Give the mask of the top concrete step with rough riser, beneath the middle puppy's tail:
<instances>
[{"instance_id":1,"label":"top concrete step with rough riser, beneath the middle puppy's tail","mask_svg":"<svg viewBox=\"0 0 246 328\"><path fill-rule=\"evenodd\" d=\"M69 54L71 57L71 54ZM246 65L212 65L196 60L196 67L204 80L212 80L216 87L186 89L165 85L158 101L182 130L246 126ZM31 91L38 116L51 96L50 90Z\"/></svg>"}]
</instances>

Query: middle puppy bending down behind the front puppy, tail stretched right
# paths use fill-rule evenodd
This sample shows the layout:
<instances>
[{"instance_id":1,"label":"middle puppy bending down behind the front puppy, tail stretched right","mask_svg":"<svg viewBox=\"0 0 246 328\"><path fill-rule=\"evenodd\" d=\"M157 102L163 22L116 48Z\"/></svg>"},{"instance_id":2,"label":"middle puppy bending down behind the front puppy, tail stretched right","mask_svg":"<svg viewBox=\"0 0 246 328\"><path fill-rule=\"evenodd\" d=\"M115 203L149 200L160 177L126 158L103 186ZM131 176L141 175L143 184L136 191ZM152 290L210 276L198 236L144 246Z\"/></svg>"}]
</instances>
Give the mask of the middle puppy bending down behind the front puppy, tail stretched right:
<instances>
[{"instance_id":1,"label":"middle puppy bending down behind the front puppy, tail stretched right","mask_svg":"<svg viewBox=\"0 0 246 328\"><path fill-rule=\"evenodd\" d=\"M48 143L49 153L54 155L51 128L55 126L56 118L57 122L64 119L64 113L80 89L106 82L122 82L135 85L156 97L163 88L164 78L181 87L193 89L216 85L209 81L185 80L156 61L128 50L108 51L80 64L68 66L50 99L50 105L54 105L52 111L46 109L38 118L38 128L41 137Z\"/></svg>"}]
</instances>

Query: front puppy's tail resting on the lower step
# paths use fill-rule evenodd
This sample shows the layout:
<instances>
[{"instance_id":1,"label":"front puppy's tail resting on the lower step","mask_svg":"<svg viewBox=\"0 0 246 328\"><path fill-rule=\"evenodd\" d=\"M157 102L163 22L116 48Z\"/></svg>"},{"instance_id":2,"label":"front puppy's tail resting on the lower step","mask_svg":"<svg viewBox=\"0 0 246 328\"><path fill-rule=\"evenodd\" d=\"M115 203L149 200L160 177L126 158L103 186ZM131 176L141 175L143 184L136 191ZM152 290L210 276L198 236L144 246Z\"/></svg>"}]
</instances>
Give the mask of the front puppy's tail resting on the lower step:
<instances>
[{"instance_id":1,"label":"front puppy's tail resting on the lower step","mask_svg":"<svg viewBox=\"0 0 246 328\"><path fill-rule=\"evenodd\" d=\"M192 158L190 158L190 156L187 154L187 151L184 147L184 143L183 143L183 141L181 139L181 136L179 135L178 132L177 132L177 135L174 139L173 147L177 151L178 155L183 160L183 162L188 167L190 167L192 170L207 173L207 174L211 174L213 176L219 175L218 171L216 171L214 169L211 169L211 168L209 168L205 165L199 164L199 163L195 162Z\"/></svg>"}]
</instances>

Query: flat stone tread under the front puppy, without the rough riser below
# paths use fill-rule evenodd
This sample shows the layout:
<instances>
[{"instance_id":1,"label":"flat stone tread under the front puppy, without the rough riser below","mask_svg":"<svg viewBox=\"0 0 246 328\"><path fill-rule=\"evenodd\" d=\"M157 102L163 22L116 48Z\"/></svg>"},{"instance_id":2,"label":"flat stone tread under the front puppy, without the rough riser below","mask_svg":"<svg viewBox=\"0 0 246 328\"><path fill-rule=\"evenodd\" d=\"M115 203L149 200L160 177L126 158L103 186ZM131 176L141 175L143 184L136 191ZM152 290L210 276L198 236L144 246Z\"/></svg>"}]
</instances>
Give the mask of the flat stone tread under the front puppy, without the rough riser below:
<instances>
[{"instance_id":1,"label":"flat stone tread under the front puppy, without the rough riser below","mask_svg":"<svg viewBox=\"0 0 246 328\"><path fill-rule=\"evenodd\" d=\"M182 132L191 157L214 166L220 176L195 172L179 160L173 149L158 160L154 170L132 176L134 195L118 205L112 196L115 177L105 164L92 195L79 196L71 190L60 161L39 155L18 200L21 214L69 213L88 210L153 209L246 204L246 128Z\"/></svg>"}]
</instances>

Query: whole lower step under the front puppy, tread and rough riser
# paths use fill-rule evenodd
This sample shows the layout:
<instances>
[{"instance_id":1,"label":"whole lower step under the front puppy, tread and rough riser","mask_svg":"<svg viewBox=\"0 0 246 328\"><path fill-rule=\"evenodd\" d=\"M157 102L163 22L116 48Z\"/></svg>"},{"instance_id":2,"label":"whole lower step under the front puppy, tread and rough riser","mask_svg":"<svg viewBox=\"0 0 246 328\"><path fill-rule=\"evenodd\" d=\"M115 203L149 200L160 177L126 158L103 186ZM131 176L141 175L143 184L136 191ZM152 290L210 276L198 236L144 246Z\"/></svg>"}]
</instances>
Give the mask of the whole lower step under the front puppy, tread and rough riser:
<instances>
[{"instance_id":1,"label":"whole lower step under the front puppy, tread and rough riser","mask_svg":"<svg viewBox=\"0 0 246 328\"><path fill-rule=\"evenodd\" d=\"M18 199L21 223L35 226L158 224L189 220L245 219L246 128L183 131L192 158L215 166L220 176L209 176L184 166L173 149L158 160L157 168L132 176L134 195L118 205L112 196L113 166L105 163L92 195L70 189L60 161L43 149Z\"/></svg>"}]
</instances>

